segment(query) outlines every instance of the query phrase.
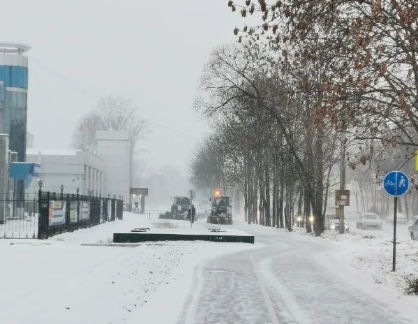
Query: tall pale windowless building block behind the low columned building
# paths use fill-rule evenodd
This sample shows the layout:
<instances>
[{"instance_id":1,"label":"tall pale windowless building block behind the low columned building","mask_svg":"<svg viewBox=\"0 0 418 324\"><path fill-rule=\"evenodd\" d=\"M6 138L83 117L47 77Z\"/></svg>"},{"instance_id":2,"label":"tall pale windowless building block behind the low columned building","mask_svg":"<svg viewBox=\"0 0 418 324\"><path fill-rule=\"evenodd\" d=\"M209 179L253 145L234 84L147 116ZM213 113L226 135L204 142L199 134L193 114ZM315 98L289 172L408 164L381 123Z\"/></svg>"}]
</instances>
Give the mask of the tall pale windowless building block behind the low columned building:
<instances>
[{"instance_id":1,"label":"tall pale windowless building block behind the low columned building","mask_svg":"<svg viewBox=\"0 0 418 324\"><path fill-rule=\"evenodd\" d=\"M130 140L125 131L97 131L96 150L105 161L103 192L129 199Z\"/></svg>"}]
</instances>

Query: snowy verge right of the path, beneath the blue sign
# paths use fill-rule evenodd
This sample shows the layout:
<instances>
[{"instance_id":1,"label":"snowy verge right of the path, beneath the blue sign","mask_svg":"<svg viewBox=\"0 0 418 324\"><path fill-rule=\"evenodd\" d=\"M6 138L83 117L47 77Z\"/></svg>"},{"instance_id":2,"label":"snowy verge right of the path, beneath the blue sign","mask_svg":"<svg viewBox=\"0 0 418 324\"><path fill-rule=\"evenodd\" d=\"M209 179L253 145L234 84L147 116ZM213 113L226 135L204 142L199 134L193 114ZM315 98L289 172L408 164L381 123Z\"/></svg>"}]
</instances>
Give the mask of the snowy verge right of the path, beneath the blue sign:
<instances>
[{"instance_id":1,"label":"snowy verge right of the path, beneath the blue sign","mask_svg":"<svg viewBox=\"0 0 418 324\"><path fill-rule=\"evenodd\" d=\"M297 235L304 242L314 241L327 246L329 249L325 252L315 253L315 260L341 279L341 284L353 286L382 303L392 305L400 314L418 318L418 296L404 293L405 277L418 277L418 241L412 242L403 233L405 228L398 229L396 272L391 272L393 239L389 228L386 232L352 230L344 235L325 231L321 237L307 234L304 228L298 227L290 233L276 228L264 230Z\"/></svg>"}]
</instances>

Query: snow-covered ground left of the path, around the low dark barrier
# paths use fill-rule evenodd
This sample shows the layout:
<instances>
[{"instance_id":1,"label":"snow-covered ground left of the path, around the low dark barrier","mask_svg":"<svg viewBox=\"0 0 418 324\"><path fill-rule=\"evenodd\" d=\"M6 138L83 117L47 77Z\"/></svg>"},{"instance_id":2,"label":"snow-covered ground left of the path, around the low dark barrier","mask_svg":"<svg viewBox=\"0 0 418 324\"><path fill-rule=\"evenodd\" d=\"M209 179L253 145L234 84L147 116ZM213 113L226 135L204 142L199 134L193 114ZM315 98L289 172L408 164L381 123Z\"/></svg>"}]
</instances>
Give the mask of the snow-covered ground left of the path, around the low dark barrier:
<instances>
[{"instance_id":1,"label":"snow-covered ground left of the path, around the low dark barrier","mask_svg":"<svg viewBox=\"0 0 418 324\"><path fill-rule=\"evenodd\" d=\"M144 316L163 309L164 291L170 286L176 295L165 299L176 316L199 263L255 249L253 244L212 242L103 244L111 242L115 232L161 223L156 214L148 217L125 213L123 221L45 241L1 240L0 323L157 323ZM147 304L150 308L144 307Z\"/></svg>"}]
</instances>

